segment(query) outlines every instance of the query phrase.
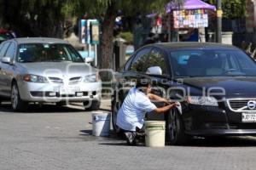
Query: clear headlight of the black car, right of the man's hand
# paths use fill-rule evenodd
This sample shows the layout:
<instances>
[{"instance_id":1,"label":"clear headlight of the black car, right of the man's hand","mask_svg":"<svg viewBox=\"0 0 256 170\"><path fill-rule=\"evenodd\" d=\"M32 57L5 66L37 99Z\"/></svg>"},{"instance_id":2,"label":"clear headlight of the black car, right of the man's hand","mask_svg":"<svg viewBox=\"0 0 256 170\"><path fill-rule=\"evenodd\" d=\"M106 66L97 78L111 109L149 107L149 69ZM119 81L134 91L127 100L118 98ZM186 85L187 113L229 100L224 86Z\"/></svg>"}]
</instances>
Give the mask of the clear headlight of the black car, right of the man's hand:
<instances>
[{"instance_id":1,"label":"clear headlight of the black car, right of the man's hand","mask_svg":"<svg viewBox=\"0 0 256 170\"><path fill-rule=\"evenodd\" d=\"M189 96L188 102L192 105L218 106L217 99L209 96Z\"/></svg>"}]
</instances>

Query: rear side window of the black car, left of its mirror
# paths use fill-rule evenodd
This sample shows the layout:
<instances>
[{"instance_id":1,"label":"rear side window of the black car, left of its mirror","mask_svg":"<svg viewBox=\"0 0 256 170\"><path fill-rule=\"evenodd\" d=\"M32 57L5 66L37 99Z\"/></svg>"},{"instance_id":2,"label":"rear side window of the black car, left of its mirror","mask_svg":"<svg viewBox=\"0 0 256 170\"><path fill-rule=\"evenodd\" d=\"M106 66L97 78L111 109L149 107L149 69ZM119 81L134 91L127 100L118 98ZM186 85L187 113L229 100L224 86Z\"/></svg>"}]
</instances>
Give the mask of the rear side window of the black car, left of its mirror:
<instances>
[{"instance_id":1,"label":"rear side window of the black car, left of its mirror","mask_svg":"<svg viewBox=\"0 0 256 170\"><path fill-rule=\"evenodd\" d=\"M151 48L143 48L137 52L135 59L132 60L130 71L146 72L146 63Z\"/></svg>"}]
</instances>

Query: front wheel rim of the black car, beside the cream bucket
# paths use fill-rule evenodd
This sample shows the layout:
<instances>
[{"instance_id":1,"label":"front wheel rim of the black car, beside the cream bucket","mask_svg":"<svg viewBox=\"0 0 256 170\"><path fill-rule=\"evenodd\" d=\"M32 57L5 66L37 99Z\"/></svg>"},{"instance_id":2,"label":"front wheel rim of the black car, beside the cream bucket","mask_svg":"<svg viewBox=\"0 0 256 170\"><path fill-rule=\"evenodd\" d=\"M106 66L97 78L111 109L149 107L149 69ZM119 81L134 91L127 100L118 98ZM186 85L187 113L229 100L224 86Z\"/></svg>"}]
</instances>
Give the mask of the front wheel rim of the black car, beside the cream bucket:
<instances>
[{"instance_id":1,"label":"front wheel rim of the black car, beside the cream bucket","mask_svg":"<svg viewBox=\"0 0 256 170\"><path fill-rule=\"evenodd\" d=\"M176 111L170 111L170 118L168 123L170 140L173 141L177 136L177 113Z\"/></svg>"}]
</instances>

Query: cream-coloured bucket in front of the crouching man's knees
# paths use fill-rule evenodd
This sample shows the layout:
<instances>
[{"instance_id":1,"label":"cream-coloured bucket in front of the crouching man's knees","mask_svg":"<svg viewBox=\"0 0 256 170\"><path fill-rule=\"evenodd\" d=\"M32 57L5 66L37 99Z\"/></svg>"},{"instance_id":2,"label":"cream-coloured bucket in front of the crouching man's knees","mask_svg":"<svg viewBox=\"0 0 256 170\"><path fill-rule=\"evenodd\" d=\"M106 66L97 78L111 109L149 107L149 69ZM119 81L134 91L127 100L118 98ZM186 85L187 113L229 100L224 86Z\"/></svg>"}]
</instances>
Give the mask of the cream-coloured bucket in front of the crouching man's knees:
<instances>
[{"instance_id":1,"label":"cream-coloured bucket in front of the crouching man's knees","mask_svg":"<svg viewBox=\"0 0 256 170\"><path fill-rule=\"evenodd\" d=\"M146 121L145 140L148 147L164 147L166 142L166 122Z\"/></svg>"}]
</instances>

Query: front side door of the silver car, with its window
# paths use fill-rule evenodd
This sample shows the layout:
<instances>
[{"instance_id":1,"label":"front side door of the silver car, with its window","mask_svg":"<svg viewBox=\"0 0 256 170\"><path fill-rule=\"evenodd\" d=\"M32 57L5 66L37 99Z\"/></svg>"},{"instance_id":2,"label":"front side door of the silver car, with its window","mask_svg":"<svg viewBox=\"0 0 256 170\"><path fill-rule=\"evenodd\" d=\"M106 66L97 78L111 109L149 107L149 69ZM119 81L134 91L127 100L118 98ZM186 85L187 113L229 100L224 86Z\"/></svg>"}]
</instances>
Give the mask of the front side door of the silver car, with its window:
<instances>
[{"instance_id":1,"label":"front side door of the silver car, with its window","mask_svg":"<svg viewBox=\"0 0 256 170\"><path fill-rule=\"evenodd\" d=\"M13 61L15 59L15 53L16 52L16 45L15 42L10 42L9 48L7 49L6 53L3 57L9 57L11 60L11 63L2 63L2 93L5 96L10 96L11 94L11 82L14 77L14 71L15 71L15 65L13 65Z\"/></svg>"}]
</instances>

